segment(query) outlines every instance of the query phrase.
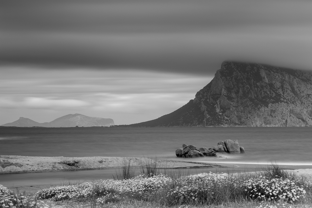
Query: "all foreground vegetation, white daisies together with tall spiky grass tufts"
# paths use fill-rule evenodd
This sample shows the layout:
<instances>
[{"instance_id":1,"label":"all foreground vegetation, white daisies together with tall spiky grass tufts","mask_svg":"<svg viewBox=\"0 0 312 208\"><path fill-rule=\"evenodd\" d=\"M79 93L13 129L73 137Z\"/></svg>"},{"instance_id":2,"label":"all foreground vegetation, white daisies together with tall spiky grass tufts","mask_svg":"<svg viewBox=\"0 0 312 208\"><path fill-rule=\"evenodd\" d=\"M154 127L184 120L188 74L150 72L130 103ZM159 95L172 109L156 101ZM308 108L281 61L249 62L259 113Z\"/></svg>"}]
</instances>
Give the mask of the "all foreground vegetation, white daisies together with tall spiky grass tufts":
<instances>
[{"instance_id":1,"label":"all foreground vegetation, white daisies together with tall spiky grass tufts","mask_svg":"<svg viewBox=\"0 0 312 208\"><path fill-rule=\"evenodd\" d=\"M156 163L146 164L139 175L133 176L134 169L128 163L114 179L55 186L38 191L34 198L53 200L63 207L290 208L312 204L311 181L276 165L254 174L208 172L182 176L181 172L160 172Z\"/></svg>"}]
</instances>

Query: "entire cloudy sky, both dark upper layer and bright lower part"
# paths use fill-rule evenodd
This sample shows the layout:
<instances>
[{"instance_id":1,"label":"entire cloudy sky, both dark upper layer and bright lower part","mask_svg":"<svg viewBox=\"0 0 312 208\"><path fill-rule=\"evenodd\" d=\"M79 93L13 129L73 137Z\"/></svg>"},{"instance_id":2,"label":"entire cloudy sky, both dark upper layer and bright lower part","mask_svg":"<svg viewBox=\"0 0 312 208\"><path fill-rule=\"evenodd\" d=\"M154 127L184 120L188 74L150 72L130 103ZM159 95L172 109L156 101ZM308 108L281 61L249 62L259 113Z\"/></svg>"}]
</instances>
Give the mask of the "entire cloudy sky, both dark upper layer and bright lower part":
<instances>
[{"instance_id":1,"label":"entire cloudy sky, both dark upper layer and bright lower part","mask_svg":"<svg viewBox=\"0 0 312 208\"><path fill-rule=\"evenodd\" d=\"M139 123L194 99L225 60L312 70L312 2L1 1L0 125Z\"/></svg>"}]
</instances>

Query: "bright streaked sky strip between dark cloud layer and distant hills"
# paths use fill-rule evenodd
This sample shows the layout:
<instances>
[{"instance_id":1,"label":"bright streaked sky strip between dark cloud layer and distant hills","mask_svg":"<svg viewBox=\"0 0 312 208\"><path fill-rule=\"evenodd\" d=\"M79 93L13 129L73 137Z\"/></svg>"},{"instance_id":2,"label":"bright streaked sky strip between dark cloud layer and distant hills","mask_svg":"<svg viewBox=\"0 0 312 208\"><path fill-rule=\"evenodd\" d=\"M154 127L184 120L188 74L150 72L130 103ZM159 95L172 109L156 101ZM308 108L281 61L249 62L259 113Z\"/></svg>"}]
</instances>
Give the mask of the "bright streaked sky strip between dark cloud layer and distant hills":
<instances>
[{"instance_id":1,"label":"bright streaked sky strip between dark cloud layer and distant hills","mask_svg":"<svg viewBox=\"0 0 312 208\"><path fill-rule=\"evenodd\" d=\"M212 79L142 70L1 70L1 124L19 117L49 122L70 113L111 118L116 124L143 122L182 107Z\"/></svg>"}]
</instances>

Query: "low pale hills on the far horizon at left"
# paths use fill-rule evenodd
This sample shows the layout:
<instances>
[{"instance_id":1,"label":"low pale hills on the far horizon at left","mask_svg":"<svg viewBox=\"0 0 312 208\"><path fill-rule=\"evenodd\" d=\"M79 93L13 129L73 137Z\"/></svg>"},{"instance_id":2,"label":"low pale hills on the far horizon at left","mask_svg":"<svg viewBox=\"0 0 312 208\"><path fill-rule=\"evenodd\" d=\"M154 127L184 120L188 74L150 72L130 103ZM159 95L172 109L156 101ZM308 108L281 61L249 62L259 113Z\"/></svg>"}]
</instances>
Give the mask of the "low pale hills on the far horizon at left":
<instances>
[{"instance_id":1,"label":"low pale hills on the far horizon at left","mask_svg":"<svg viewBox=\"0 0 312 208\"><path fill-rule=\"evenodd\" d=\"M89 117L82 114L68 114L55 119L51 122L38 123L31 119L20 117L17 121L6 123L1 126L16 126L16 127L75 127L75 126L111 126L115 125L113 119L104 119L99 117Z\"/></svg>"}]
</instances>

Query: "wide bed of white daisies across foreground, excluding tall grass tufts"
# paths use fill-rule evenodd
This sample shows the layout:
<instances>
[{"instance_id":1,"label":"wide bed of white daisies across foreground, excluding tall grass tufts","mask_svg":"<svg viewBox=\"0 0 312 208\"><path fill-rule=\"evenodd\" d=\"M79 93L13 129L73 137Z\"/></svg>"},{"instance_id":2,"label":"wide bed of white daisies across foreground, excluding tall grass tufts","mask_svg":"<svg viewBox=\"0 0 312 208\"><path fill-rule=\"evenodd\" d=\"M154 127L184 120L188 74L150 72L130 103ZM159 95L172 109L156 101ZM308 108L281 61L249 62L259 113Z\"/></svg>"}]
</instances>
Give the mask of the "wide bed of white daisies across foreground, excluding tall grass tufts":
<instances>
[{"instance_id":1,"label":"wide bed of white daisies across foreground, excluding tall grass tufts","mask_svg":"<svg viewBox=\"0 0 312 208\"><path fill-rule=\"evenodd\" d=\"M258 204L258 208L290 208L304 200L308 196L307 191L310 200L310 181L290 180L287 177L283 179L258 175L233 176L209 172L170 178L163 174L142 173L124 180L100 180L51 187L38 191L35 197L54 201L90 199L93 200L92 203L102 205L134 200L163 207L223 206L224 203L239 201L263 201Z\"/></svg>"}]
</instances>

